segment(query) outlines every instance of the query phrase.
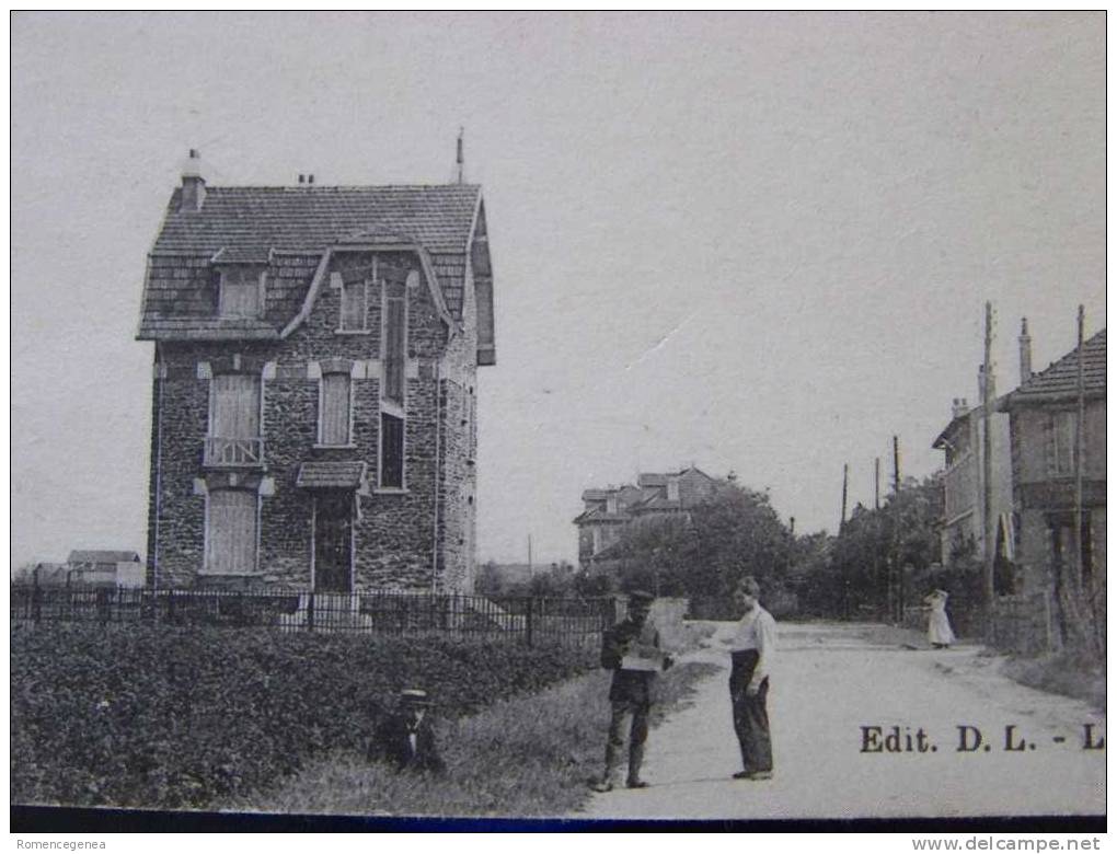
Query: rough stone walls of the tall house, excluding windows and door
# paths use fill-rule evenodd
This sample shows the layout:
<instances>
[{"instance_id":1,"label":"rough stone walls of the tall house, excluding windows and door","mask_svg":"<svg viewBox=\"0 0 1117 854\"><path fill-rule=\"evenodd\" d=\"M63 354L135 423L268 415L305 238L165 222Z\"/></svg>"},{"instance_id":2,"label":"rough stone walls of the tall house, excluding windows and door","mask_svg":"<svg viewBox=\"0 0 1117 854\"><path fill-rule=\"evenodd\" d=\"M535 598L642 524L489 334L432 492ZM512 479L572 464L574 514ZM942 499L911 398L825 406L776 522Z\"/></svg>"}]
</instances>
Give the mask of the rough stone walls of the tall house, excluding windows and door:
<instances>
[{"instance_id":1,"label":"rough stone walls of the tall house, excluding windows and door","mask_svg":"<svg viewBox=\"0 0 1117 854\"><path fill-rule=\"evenodd\" d=\"M404 270L419 267L407 253L379 256L381 263ZM345 253L335 258L332 269L353 270L370 262L369 255ZM409 291L405 490L378 490L381 311L379 289L371 290L366 334L336 333L341 292L330 287L327 271L313 310L286 340L157 345L147 554L149 576L159 586L308 587L314 493L295 486L299 467L315 460L362 460L371 489L359 497L360 516L354 520L355 588L429 588L436 556L439 441L447 448L440 501L440 573L446 573L443 584L455 589L471 585L472 555L470 550L467 556L467 549L472 545L472 503L468 499L474 496L475 478L472 466L466 463L470 438L469 426L460 423L462 392L454 390L476 390L470 362L470 357L476 358L476 337L467 347L459 335L443 352L447 328L427 284L421 281ZM266 471L242 481L259 490L258 572L250 577L220 578L202 574L206 483L213 477L202 467L202 451L209 429L209 376L214 365L231 363L235 355L240 357L242 371L262 377L260 424ZM351 371L351 447L316 447L318 376L327 359L343 359ZM442 388L439 401L436 375L442 373L461 382L455 386L438 381ZM440 440L436 439L436 412L442 415Z\"/></svg>"}]
</instances>

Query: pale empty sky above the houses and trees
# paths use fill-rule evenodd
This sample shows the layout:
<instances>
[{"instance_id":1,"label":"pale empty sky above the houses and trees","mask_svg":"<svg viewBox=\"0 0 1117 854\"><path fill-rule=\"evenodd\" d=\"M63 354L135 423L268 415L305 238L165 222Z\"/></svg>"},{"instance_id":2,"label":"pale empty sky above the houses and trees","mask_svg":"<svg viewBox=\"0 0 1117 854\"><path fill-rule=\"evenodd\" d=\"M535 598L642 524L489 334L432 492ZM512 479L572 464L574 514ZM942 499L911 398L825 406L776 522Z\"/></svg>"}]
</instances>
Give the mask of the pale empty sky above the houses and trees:
<instances>
[{"instance_id":1,"label":"pale empty sky above the houses and trees","mask_svg":"<svg viewBox=\"0 0 1117 854\"><path fill-rule=\"evenodd\" d=\"M696 464L798 531L942 466L1105 326L1105 13L49 13L11 21L12 560L144 551L146 252L211 184L483 184L478 558ZM884 477L884 476L882 476Z\"/></svg>"}]
</instances>

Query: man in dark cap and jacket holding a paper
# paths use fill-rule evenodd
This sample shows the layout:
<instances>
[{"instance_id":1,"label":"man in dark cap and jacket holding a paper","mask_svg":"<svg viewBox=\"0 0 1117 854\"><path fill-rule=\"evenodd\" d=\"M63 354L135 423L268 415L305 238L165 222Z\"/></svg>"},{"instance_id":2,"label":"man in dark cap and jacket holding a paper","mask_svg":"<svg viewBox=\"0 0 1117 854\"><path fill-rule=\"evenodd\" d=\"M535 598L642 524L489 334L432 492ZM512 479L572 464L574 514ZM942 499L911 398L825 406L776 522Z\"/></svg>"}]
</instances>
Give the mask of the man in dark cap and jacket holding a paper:
<instances>
[{"instance_id":1,"label":"man in dark cap and jacket holding a paper","mask_svg":"<svg viewBox=\"0 0 1117 854\"><path fill-rule=\"evenodd\" d=\"M652 685L656 673L671 666L671 659L660 649L659 632L648 620L655 598L643 591L630 594L628 616L607 630L602 639L601 666L613 671L613 683L609 690L612 717L605 743L605 773L593 784L595 791L610 791L618 783L626 719L631 719L626 785L630 789L642 789L648 785L640 779L640 765L648 738Z\"/></svg>"}]
</instances>

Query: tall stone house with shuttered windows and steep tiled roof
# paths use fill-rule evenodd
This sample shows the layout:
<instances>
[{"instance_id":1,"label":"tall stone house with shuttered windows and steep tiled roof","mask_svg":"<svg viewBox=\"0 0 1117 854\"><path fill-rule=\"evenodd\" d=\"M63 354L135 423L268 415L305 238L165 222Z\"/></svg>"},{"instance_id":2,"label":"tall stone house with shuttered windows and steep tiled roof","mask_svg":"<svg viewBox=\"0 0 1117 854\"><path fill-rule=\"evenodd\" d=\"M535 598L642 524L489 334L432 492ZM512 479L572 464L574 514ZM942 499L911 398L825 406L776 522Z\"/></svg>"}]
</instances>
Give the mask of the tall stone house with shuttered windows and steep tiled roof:
<instances>
[{"instance_id":1,"label":"tall stone house with shuttered windows and steep tiled roof","mask_svg":"<svg viewBox=\"0 0 1117 854\"><path fill-rule=\"evenodd\" d=\"M471 589L480 188L209 186L191 152L139 338L150 585Z\"/></svg>"}]
</instances>

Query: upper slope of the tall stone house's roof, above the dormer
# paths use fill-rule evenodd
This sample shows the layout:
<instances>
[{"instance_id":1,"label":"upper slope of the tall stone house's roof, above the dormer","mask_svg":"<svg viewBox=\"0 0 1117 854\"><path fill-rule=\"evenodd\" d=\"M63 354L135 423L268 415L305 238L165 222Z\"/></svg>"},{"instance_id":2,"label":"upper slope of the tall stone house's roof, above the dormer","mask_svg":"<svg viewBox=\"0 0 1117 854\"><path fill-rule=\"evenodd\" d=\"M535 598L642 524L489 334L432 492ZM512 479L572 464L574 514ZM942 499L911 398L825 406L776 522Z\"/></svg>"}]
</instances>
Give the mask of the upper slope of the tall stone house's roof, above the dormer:
<instances>
[{"instance_id":1,"label":"upper slope of the tall stone house's roof, above the dormer","mask_svg":"<svg viewBox=\"0 0 1117 854\"><path fill-rule=\"evenodd\" d=\"M269 249L321 250L370 230L464 252L480 195L477 184L404 186L207 186L199 211L171 195L152 252L267 257Z\"/></svg>"}]
</instances>

